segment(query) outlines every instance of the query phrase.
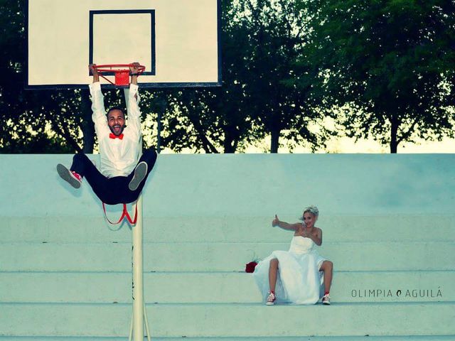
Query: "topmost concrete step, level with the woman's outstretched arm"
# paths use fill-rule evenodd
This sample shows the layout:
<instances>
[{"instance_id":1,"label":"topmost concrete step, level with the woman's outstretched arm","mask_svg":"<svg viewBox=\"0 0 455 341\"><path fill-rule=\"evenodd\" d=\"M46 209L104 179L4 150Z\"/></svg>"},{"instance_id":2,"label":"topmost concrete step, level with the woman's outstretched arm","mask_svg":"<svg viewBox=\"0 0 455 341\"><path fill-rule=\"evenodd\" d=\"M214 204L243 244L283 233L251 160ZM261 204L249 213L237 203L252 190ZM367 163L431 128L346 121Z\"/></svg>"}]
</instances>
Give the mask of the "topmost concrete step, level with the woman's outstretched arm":
<instances>
[{"instance_id":1,"label":"topmost concrete step, level with the woman's outstretched arm","mask_svg":"<svg viewBox=\"0 0 455 341\"><path fill-rule=\"evenodd\" d=\"M75 211L77 213L77 210ZM298 215L280 216L296 222ZM291 232L272 228L267 217L150 217L144 216L144 242L289 242ZM112 212L109 217L119 217ZM100 209L95 217L0 217L2 242L130 242L131 229L107 224ZM428 233L426 221L432 222ZM322 216L323 242L429 242L455 240L455 216ZM119 230L114 230L118 229ZM63 233L64 232L64 233ZM348 233L347 233L348 232Z\"/></svg>"}]
</instances>

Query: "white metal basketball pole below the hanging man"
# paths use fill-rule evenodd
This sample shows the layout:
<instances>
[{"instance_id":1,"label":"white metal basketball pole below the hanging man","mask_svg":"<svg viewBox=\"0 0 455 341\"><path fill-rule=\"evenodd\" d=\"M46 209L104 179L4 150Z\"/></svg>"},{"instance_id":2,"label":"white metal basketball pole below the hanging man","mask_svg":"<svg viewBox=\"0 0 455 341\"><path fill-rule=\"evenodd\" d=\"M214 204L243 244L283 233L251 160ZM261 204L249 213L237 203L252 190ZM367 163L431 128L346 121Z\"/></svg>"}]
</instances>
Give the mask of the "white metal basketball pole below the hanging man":
<instances>
[{"instance_id":1,"label":"white metal basketball pole below the hanging man","mask_svg":"<svg viewBox=\"0 0 455 341\"><path fill-rule=\"evenodd\" d=\"M137 199L133 238L133 340L144 341L144 256L142 254L142 194Z\"/></svg>"}]
</instances>

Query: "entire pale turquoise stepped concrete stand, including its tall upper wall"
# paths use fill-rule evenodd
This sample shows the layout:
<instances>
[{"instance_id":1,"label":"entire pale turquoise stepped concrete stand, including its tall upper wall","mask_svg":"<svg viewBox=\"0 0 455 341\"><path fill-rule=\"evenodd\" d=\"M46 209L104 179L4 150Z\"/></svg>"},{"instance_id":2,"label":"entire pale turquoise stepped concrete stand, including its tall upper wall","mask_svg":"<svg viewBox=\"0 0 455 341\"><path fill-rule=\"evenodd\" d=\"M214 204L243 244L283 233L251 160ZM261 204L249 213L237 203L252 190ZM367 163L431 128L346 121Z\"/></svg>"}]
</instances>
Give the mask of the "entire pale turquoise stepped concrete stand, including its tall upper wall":
<instances>
[{"instance_id":1,"label":"entire pale turquoise stepped concrete stand, including its tall upper wall","mask_svg":"<svg viewBox=\"0 0 455 341\"><path fill-rule=\"evenodd\" d=\"M87 183L65 187L62 159L0 156L0 341L127 338L131 230L109 228ZM455 340L454 161L160 156L144 192L152 338ZM295 222L314 203L332 305L262 305L245 263L289 247L275 213Z\"/></svg>"}]
</instances>

